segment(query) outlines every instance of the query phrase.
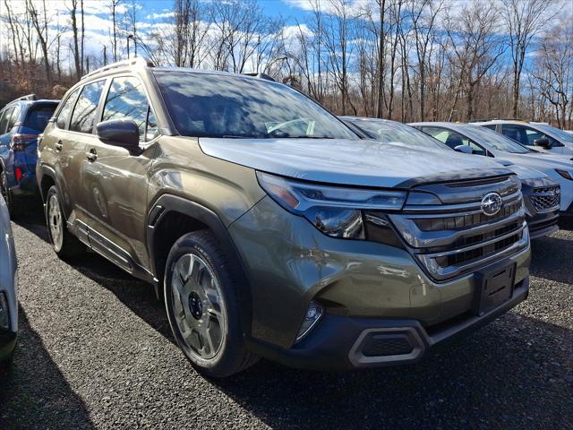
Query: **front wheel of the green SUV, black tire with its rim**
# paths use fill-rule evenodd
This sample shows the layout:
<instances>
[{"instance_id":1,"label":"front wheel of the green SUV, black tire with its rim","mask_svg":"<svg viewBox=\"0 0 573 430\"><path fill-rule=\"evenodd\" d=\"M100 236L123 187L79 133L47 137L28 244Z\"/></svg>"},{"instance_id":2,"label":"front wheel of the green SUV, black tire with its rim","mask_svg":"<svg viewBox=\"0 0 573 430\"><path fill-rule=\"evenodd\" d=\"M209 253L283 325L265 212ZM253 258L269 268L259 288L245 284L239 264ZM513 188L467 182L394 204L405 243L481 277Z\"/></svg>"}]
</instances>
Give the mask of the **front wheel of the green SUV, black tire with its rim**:
<instances>
[{"instance_id":1,"label":"front wheel of the green SUV, black tire with its rim","mask_svg":"<svg viewBox=\"0 0 573 430\"><path fill-rule=\"evenodd\" d=\"M175 340L201 374L223 378L252 366L227 255L210 230L180 237L167 257L164 297Z\"/></svg>"}]
</instances>

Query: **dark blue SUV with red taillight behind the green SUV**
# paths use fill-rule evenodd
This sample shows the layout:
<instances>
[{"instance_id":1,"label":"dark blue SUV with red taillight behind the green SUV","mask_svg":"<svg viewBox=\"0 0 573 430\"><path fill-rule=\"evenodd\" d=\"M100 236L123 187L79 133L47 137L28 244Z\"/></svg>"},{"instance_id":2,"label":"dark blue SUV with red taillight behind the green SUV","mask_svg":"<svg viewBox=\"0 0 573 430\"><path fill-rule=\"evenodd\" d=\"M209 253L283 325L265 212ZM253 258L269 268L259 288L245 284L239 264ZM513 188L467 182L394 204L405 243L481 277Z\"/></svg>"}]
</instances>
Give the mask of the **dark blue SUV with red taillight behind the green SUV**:
<instances>
[{"instance_id":1,"label":"dark blue SUV with red taillight behind the green SUV","mask_svg":"<svg viewBox=\"0 0 573 430\"><path fill-rule=\"evenodd\" d=\"M58 103L30 94L0 110L0 193L11 212L18 209L22 198L38 195L38 134L43 133Z\"/></svg>"}]
</instances>

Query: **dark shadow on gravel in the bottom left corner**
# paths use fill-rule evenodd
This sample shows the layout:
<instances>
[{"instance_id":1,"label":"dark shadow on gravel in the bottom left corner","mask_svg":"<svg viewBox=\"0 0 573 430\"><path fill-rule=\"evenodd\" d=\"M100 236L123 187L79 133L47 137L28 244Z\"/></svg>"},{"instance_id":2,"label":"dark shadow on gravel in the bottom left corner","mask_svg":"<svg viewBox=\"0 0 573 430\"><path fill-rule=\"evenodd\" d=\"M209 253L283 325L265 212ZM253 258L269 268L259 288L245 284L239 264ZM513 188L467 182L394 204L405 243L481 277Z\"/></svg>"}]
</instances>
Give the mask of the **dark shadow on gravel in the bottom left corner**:
<instances>
[{"instance_id":1,"label":"dark shadow on gravel in the bottom left corner","mask_svg":"<svg viewBox=\"0 0 573 430\"><path fill-rule=\"evenodd\" d=\"M22 308L19 313L13 362L0 368L0 428L95 428Z\"/></svg>"}]
</instances>

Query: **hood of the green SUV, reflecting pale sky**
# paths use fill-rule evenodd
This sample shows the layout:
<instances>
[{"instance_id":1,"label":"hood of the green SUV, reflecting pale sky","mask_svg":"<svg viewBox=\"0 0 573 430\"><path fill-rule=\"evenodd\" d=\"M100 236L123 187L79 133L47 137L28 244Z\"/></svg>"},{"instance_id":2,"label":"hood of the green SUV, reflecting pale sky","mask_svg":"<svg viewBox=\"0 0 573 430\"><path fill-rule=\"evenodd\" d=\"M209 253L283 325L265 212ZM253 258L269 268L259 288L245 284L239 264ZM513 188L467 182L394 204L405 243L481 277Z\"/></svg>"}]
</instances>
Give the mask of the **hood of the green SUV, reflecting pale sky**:
<instances>
[{"instance_id":1,"label":"hood of the green SUV, reflecting pale sky","mask_svg":"<svg viewBox=\"0 0 573 430\"><path fill-rule=\"evenodd\" d=\"M280 176L339 185L409 187L511 173L453 150L421 150L368 140L200 138L201 150Z\"/></svg>"}]
</instances>

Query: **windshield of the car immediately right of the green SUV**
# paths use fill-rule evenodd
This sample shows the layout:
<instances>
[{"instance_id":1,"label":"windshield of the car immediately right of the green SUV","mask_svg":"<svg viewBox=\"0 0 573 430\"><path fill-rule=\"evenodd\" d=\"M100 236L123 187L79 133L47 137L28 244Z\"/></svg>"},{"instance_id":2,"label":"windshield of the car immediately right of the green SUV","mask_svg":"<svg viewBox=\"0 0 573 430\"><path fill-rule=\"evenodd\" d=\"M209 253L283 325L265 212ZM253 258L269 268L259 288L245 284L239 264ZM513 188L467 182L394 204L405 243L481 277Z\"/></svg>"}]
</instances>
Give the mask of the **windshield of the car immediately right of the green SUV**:
<instances>
[{"instance_id":1,"label":"windshield of the car immediately right of the green SUV","mask_svg":"<svg viewBox=\"0 0 573 430\"><path fill-rule=\"evenodd\" d=\"M349 118L348 121L362 128L365 132L372 135L372 138L380 142L403 143L424 149L449 150L449 147L443 143L436 141L433 137L416 130L410 125L374 118Z\"/></svg>"}]
</instances>

